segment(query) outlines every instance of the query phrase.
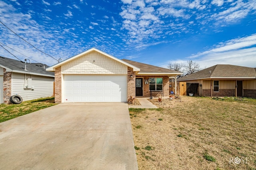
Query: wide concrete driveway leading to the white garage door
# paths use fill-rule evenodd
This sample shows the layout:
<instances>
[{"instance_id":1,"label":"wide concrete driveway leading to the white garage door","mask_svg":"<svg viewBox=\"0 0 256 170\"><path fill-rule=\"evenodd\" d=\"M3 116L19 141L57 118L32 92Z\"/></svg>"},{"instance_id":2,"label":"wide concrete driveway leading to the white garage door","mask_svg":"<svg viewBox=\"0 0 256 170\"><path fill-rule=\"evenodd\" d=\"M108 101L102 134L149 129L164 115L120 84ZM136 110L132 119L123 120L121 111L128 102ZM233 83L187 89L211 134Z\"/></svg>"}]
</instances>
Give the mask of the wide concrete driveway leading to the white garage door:
<instances>
[{"instance_id":1,"label":"wide concrete driveway leading to the white garage door","mask_svg":"<svg viewBox=\"0 0 256 170\"><path fill-rule=\"evenodd\" d=\"M0 169L137 170L125 103L58 104L0 123Z\"/></svg>"}]
</instances>

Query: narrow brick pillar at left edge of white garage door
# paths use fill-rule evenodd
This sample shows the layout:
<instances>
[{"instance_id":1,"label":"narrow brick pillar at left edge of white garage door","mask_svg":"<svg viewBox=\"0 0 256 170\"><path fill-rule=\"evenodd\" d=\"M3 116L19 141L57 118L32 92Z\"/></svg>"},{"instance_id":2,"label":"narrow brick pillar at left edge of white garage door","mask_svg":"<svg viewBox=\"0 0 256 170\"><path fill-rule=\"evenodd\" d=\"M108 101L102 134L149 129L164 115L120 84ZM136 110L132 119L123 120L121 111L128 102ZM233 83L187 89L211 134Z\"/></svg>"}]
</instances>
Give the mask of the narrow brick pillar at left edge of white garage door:
<instances>
[{"instance_id":1,"label":"narrow brick pillar at left edge of white garage door","mask_svg":"<svg viewBox=\"0 0 256 170\"><path fill-rule=\"evenodd\" d=\"M55 91L54 91L54 100L55 103L61 103L61 66L55 68Z\"/></svg>"}]
</instances>

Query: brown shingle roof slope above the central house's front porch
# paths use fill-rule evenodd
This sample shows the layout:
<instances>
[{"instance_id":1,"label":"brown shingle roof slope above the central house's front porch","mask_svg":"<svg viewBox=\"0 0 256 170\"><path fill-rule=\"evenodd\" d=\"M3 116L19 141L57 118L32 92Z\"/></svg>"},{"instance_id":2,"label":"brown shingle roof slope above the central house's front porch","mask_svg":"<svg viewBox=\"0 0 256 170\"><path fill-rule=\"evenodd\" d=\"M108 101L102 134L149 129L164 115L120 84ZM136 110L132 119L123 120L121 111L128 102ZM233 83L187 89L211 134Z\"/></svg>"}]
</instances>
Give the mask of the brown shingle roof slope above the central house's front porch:
<instances>
[{"instance_id":1,"label":"brown shingle roof slope above the central house's front porch","mask_svg":"<svg viewBox=\"0 0 256 170\"><path fill-rule=\"evenodd\" d=\"M136 62L136 61L130 61L130 60L126 60L126 59L122 59L122 61L125 61L126 63L132 64L133 66L136 66L136 67L140 68L140 72L180 73L179 71L170 70L168 68L162 68L162 67L153 66L153 65L149 65L149 64L139 63L139 62Z\"/></svg>"}]
</instances>

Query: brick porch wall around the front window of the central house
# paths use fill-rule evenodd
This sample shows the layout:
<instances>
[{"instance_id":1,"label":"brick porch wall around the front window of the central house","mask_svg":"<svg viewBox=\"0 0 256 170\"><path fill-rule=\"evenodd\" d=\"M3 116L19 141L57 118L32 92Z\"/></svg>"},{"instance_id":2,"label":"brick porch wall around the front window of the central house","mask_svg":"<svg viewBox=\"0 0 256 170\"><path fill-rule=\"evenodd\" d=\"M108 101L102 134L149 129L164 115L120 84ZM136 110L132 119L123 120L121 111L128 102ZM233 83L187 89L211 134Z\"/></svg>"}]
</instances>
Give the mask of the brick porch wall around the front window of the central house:
<instances>
[{"instance_id":1,"label":"brick porch wall around the front window of the central house","mask_svg":"<svg viewBox=\"0 0 256 170\"><path fill-rule=\"evenodd\" d=\"M150 97L149 83L145 84L145 80L149 80L149 78L157 78L157 77L163 78L164 97L169 96L169 77L168 76L142 76L142 77L144 78L143 95L145 97ZM152 96L158 97L158 96L161 96L161 94L154 92L154 94L152 94Z\"/></svg>"}]
</instances>

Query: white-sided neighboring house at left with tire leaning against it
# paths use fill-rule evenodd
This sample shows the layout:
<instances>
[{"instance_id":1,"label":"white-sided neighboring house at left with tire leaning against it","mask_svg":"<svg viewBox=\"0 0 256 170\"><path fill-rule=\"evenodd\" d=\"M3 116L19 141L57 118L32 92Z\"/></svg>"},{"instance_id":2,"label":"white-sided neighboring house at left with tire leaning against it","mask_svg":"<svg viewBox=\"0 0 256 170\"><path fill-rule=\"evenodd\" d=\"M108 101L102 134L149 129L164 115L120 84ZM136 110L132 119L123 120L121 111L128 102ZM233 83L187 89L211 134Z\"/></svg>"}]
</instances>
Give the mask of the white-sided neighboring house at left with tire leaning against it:
<instances>
[{"instance_id":1,"label":"white-sided neighboring house at left with tire leaning against it","mask_svg":"<svg viewBox=\"0 0 256 170\"><path fill-rule=\"evenodd\" d=\"M9 104L18 94L23 101L49 97L54 94L54 73L41 63L25 64L0 57L0 103Z\"/></svg>"}]
</instances>

